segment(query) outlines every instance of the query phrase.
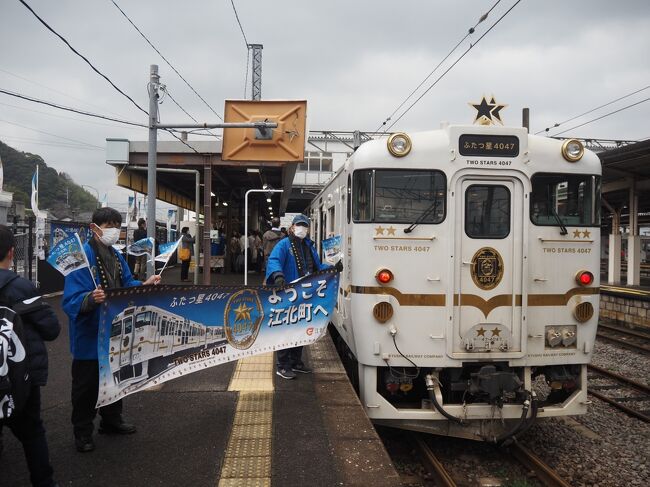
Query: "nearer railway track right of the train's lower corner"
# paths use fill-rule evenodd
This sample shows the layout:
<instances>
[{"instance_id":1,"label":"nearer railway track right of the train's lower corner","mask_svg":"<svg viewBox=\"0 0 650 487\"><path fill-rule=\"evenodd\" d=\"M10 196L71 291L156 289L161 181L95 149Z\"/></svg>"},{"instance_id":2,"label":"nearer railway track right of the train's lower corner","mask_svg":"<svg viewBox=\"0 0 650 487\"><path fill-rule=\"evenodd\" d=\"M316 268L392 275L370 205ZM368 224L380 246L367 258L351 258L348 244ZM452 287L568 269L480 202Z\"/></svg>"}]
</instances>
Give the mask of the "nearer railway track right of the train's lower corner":
<instances>
[{"instance_id":1,"label":"nearer railway track right of the train's lower corner","mask_svg":"<svg viewBox=\"0 0 650 487\"><path fill-rule=\"evenodd\" d=\"M620 409L629 416L650 423L650 387L646 384L596 365L589 365L589 380L598 382L598 384L589 384L587 389L589 394ZM604 394L605 391L615 391L616 395ZM632 393L630 394L629 391ZM637 409L632 406L636 404L645 404L646 407Z\"/></svg>"}]
</instances>

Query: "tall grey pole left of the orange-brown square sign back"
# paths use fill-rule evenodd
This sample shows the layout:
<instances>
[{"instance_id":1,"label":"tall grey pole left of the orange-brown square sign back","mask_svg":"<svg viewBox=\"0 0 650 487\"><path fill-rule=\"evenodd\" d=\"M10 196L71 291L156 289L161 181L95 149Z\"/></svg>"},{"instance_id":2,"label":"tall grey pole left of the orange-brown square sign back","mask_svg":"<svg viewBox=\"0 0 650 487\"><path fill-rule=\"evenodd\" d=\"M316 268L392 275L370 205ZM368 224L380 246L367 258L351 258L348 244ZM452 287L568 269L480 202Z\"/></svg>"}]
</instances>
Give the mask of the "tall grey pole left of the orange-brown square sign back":
<instances>
[{"instance_id":1,"label":"tall grey pole left of the orange-brown square sign back","mask_svg":"<svg viewBox=\"0 0 650 487\"><path fill-rule=\"evenodd\" d=\"M156 238L156 160L158 151L158 65L149 69L149 153L147 155L147 237ZM134 202L135 203L135 202ZM156 248L147 262L147 277L156 272Z\"/></svg>"}]
</instances>

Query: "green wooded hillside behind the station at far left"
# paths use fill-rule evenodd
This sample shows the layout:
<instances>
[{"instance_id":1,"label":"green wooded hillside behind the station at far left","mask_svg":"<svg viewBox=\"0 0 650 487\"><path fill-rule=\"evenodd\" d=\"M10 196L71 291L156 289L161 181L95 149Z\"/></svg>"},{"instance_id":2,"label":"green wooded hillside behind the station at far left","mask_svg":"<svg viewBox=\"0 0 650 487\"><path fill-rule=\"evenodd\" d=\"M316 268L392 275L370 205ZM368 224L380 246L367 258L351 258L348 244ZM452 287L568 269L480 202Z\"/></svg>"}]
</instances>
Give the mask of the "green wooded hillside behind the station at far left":
<instances>
[{"instance_id":1,"label":"green wooded hillside behind the station at far left","mask_svg":"<svg viewBox=\"0 0 650 487\"><path fill-rule=\"evenodd\" d=\"M59 216L70 209L93 211L97 208L97 198L76 184L70 175L47 167L43 158L37 154L20 152L0 142L0 157L4 170L4 190L14 193L15 201L22 201L26 208L31 207L32 176L38 164L39 198L41 210L50 210ZM69 208L66 205L68 191Z\"/></svg>"}]
</instances>

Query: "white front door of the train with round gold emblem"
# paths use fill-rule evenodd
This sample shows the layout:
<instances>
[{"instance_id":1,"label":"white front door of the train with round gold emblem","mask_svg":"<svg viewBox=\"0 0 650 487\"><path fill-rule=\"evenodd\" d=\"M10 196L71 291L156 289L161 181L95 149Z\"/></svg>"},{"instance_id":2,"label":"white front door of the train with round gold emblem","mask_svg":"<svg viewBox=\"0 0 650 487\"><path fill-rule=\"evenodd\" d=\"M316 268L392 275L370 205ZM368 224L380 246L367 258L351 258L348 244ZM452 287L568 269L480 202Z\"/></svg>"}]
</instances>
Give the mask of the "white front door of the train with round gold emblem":
<instances>
[{"instance_id":1,"label":"white front door of the train with round gold emblem","mask_svg":"<svg viewBox=\"0 0 650 487\"><path fill-rule=\"evenodd\" d=\"M515 177L456 185L455 358L521 356L523 192Z\"/></svg>"}]
</instances>

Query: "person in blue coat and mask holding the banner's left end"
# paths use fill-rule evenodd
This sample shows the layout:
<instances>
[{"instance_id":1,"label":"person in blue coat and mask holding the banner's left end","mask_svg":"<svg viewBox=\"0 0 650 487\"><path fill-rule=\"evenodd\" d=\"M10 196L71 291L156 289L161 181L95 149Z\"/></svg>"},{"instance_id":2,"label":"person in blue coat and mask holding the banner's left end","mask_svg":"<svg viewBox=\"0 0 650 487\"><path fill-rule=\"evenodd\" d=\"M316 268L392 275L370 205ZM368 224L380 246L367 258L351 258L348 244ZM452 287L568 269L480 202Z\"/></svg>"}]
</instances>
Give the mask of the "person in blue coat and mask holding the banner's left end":
<instances>
[{"instance_id":1,"label":"person in blue coat and mask holding the banner's left end","mask_svg":"<svg viewBox=\"0 0 650 487\"><path fill-rule=\"evenodd\" d=\"M84 244L90 268L78 269L65 278L63 310L70 321L72 352L71 419L75 446L80 452L95 449L92 435L99 391L97 333L100 305L106 300L104 290L160 282L160 276L157 275L151 276L144 283L133 278L124 257L113 248L119 239L121 225L122 215L113 208L95 210L90 224L93 238ZM100 408L99 414L102 418L100 433L130 434L136 431L134 425L122 418L122 401Z\"/></svg>"}]
</instances>

